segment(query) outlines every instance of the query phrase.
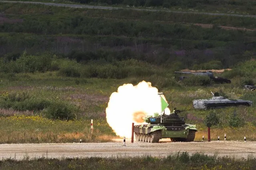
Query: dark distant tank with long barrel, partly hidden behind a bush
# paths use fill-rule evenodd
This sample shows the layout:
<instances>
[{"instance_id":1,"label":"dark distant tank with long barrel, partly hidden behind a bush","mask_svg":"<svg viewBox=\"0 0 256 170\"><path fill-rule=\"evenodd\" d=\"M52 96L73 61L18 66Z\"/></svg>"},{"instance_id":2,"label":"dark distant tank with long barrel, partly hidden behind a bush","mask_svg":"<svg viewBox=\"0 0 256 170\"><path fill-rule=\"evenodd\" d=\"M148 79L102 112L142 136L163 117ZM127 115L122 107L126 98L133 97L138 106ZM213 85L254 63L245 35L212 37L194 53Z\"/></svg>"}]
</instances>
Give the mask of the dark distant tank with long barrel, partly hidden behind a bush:
<instances>
[{"instance_id":1,"label":"dark distant tank with long barrel, partly hidden behind a bush","mask_svg":"<svg viewBox=\"0 0 256 170\"><path fill-rule=\"evenodd\" d=\"M215 83L231 83L230 79L226 79L223 77L216 77L214 76L214 74L212 73L212 71L202 71L202 72L190 72L190 71L175 71L175 74L193 74L193 75L200 75L200 76L208 76L210 77L210 79L212 81L214 81ZM179 80L183 80L185 78L189 78L186 76L181 76L179 77Z\"/></svg>"}]
</instances>

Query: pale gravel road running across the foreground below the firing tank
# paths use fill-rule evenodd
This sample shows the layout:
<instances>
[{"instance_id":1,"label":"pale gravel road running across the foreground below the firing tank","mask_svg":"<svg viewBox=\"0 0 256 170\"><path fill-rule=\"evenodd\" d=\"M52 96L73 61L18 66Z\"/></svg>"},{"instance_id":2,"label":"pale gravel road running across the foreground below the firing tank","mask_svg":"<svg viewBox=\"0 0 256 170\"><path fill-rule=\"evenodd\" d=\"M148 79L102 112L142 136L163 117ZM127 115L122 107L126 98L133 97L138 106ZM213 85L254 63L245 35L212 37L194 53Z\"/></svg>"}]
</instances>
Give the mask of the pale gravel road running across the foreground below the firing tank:
<instances>
[{"instance_id":1,"label":"pale gravel road running across the foreground below the firing tank","mask_svg":"<svg viewBox=\"0 0 256 170\"><path fill-rule=\"evenodd\" d=\"M45 143L45 144L0 144L0 158L66 158L66 157L115 157L115 156L167 156L177 152L196 152L218 156L247 158L256 156L256 142L161 142L144 143L130 140L123 146L122 140L108 143Z\"/></svg>"}]
</instances>

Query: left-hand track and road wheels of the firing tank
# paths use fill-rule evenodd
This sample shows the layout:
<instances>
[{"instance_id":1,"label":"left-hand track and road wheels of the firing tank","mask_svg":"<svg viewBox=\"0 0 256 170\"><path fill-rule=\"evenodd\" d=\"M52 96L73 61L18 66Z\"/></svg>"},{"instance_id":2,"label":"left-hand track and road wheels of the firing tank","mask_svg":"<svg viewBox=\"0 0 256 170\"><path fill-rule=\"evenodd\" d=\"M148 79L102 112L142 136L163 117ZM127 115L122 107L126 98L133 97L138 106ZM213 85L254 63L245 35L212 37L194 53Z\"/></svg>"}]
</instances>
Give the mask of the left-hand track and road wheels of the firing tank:
<instances>
[{"instance_id":1,"label":"left-hand track and road wheels of the firing tank","mask_svg":"<svg viewBox=\"0 0 256 170\"><path fill-rule=\"evenodd\" d=\"M150 132L148 134L135 132L135 139L141 142L157 143L161 138L161 130Z\"/></svg>"}]
</instances>

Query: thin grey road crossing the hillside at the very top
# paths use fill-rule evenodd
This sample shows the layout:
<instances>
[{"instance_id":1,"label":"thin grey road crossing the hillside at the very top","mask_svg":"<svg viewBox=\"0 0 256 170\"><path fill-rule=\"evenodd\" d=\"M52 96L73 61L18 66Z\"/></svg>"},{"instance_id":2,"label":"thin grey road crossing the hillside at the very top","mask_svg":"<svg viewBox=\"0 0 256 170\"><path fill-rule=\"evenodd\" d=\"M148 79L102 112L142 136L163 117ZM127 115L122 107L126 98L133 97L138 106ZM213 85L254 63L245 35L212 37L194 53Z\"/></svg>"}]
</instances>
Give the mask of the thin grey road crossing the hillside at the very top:
<instances>
[{"instance_id":1,"label":"thin grey road crossing the hillside at the very top","mask_svg":"<svg viewBox=\"0 0 256 170\"><path fill-rule=\"evenodd\" d=\"M47 6L62 6L71 8L90 8L90 9L103 9L103 10L119 10L119 9L130 9L138 11L151 11L151 12L174 12L174 13L187 13L187 14L205 14L213 16L238 16L238 17L251 17L256 18L256 15L241 15L241 14L224 14L224 13L210 13L210 12L186 12L186 11L172 11L172 10L161 10L161 9L141 9L141 8L121 8L121 7L108 7L108 6L90 6L90 5L77 5L77 4L58 4L58 3L48 3L48 2L30 2L30 1L0 1L7 3L24 3L24 4L43 4Z\"/></svg>"}]
</instances>

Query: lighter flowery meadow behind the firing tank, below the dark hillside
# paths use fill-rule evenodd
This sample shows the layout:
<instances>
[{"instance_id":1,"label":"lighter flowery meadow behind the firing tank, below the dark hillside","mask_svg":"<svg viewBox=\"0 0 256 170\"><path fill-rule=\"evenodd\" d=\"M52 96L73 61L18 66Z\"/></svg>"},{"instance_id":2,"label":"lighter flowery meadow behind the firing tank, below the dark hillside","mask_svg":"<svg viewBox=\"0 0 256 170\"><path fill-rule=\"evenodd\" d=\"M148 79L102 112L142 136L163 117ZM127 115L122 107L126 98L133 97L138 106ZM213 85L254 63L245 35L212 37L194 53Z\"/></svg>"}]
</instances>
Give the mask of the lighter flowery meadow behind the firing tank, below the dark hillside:
<instances>
[{"instance_id":1,"label":"lighter flowery meadow behind the firing tank, below the dark hillside","mask_svg":"<svg viewBox=\"0 0 256 170\"><path fill-rule=\"evenodd\" d=\"M167 72L167 70L165 71ZM184 82L175 80L170 82L167 78L161 79L160 75L156 76L157 78L135 78L132 76L125 79L63 77L59 75L58 71L8 75L10 73L2 74L0 84L0 105L4 107L0 110L0 115L2 115L0 118L1 143L78 142L80 138L85 142L109 141L111 138L115 138L115 134L106 122L105 108L111 93L117 91L117 88L123 83L136 85L139 81L146 80L151 81L153 86L159 87L165 94L170 109L172 105L180 110L185 110L180 115L186 118L187 123L197 125L199 131L196 133L195 140L198 141L202 140L203 135L207 136L204 120L211 111L193 109L192 100L210 98L212 96L210 91L223 91L232 99L242 98L255 102L254 92L244 91L236 78L232 79L231 84L191 87ZM167 75L163 76L167 77ZM75 119L71 121L46 119L47 114L37 109L36 102L33 104L35 106L30 109L31 107L24 105L22 100L18 102L7 100L9 103L4 100L12 99L13 95L16 97L15 99L22 98L22 94L28 96L24 100L24 103L28 103L28 105L32 105L29 97L38 103L48 101L51 105L61 100L72 105L75 111L71 114L75 114ZM47 109L48 105L44 107ZM255 141L256 122L254 120L256 115L254 110L255 106L253 105L253 107L230 107L215 111L219 117L219 123L212 127L212 140L217 140L218 136L223 137L224 134L227 134L227 140L242 141L246 136L248 141ZM234 112L242 118L245 124L232 127L229 121L232 120L230 117ZM91 136L90 119L95 122L95 133L93 134L95 136Z\"/></svg>"}]
</instances>

